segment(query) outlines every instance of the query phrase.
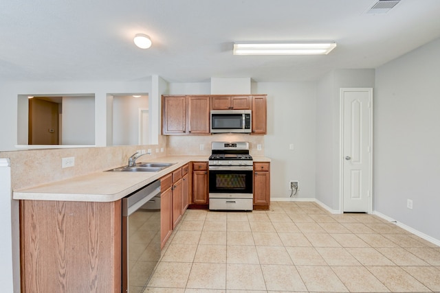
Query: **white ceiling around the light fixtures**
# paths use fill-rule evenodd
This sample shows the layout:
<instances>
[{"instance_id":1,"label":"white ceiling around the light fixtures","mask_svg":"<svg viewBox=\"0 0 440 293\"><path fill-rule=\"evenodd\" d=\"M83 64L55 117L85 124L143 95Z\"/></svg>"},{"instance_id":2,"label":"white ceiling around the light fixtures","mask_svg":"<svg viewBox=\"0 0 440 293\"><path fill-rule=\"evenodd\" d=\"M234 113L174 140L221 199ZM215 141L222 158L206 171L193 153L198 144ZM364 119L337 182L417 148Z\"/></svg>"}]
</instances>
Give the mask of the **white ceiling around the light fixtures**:
<instances>
[{"instance_id":1,"label":"white ceiling around the light fixtures","mask_svg":"<svg viewBox=\"0 0 440 293\"><path fill-rule=\"evenodd\" d=\"M4 0L0 81L318 80L375 68L440 37L439 0ZM137 33L153 46L139 49ZM250 40L335 40L327 56L234 56Z\"/></svg>"}]
</instances>

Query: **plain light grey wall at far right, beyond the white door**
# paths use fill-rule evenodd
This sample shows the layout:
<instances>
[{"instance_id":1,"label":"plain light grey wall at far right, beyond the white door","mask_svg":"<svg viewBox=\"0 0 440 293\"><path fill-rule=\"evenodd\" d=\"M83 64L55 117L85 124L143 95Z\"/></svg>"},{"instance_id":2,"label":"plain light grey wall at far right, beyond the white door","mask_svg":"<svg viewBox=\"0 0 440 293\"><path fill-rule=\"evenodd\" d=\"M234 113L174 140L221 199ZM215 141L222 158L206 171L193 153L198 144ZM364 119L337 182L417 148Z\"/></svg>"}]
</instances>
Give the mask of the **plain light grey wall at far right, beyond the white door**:
<instances>
[{"instance_id":1,"label":"plain light grey wall at far right, beyond the white door","mask_svg":"<svg viewBox=\"0 0 440 293\"><path fill-rule=\"evenodd\" d=\"M440 39L376 70L374 209L440 239ZM406 200L413 200L413 209Z\"/></svg>"}]
</instances>

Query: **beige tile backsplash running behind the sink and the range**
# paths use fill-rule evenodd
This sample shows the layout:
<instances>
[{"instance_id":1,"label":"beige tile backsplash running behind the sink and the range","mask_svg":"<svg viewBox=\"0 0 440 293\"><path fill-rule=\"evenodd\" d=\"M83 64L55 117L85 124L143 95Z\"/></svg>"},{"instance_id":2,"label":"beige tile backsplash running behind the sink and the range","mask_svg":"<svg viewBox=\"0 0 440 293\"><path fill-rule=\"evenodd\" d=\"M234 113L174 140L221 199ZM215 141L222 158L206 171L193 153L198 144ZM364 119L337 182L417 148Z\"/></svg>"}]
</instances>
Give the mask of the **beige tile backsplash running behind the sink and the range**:
<instances>
[{"instance_id":1,"label":"beige tile backsplash running behind the sink and the range","mask_svg":"<svg viewBox=\"0 0 440 293\"><path fill-rule=\"evenodd\" d=\"M129 156L141 149L152 150L146 161L167 155L209 156L212 141L249 141L252 156L264 155L262 135L213 134L159 136L159 145L17 150L0 152L0 158L10 158L12 189L17 190L126 165ZM62 159L69 157L75 158L74 167L62 168Z\"/></svg>"}]
</instances>

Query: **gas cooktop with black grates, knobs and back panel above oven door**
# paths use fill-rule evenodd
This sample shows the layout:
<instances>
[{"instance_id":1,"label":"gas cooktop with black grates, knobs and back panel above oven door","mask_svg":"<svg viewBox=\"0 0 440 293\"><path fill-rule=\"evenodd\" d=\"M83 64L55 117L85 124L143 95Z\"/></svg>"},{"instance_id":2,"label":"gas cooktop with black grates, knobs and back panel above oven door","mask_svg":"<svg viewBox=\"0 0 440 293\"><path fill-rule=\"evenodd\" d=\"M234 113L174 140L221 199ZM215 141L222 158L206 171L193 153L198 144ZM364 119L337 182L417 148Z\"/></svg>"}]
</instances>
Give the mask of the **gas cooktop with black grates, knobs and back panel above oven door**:
<instances>
[{"instance_id":1,"label":"gas cooktop with black grates, knobs and back panel above oven door","mask_svg":"<svg viewBox=\"0 0 440 293\"><path fill-rule=\"evenodd\" d=\"M210 166L252 166L252 156L249 154L247 141L213 141L211 148Z\"/></svg>"}]
</instances>

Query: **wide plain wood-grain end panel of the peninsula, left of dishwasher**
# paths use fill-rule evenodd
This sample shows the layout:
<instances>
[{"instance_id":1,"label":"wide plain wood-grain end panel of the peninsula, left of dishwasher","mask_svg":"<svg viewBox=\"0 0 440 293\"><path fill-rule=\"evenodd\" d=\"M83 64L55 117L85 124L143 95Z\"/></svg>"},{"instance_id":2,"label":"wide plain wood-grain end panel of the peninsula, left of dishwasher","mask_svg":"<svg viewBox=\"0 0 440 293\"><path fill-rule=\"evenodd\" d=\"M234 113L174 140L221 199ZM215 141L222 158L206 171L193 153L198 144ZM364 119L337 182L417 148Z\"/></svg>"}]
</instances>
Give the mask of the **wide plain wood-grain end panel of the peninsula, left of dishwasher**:
<instances>
[{"instance_id":1,"label":"wide plain wood-grain end panel of the peninsula, left of dishwasher","mask_svg":"<svg viewBox=\"0 0 440 293\"><path fill-rule=\"evenodd\" d=\"M121 200L20 200L21 292L120 292L121 229Z\"/></svg>"}]
</instances>

